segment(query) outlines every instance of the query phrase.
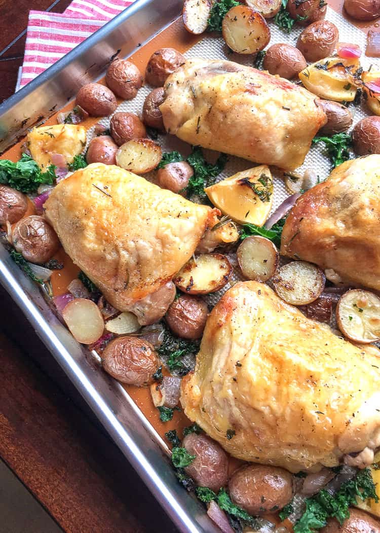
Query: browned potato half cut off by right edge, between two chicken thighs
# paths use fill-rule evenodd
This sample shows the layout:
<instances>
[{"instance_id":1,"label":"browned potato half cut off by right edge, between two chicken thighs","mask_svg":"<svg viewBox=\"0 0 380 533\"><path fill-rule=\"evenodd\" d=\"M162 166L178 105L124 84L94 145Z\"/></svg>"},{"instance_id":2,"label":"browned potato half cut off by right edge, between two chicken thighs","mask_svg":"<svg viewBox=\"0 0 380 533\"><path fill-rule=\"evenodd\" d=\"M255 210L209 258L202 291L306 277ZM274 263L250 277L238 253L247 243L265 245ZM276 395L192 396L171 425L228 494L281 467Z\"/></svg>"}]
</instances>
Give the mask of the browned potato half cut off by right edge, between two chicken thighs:
<instances>
[{"instance_id":1,"label":"browned potato half cut off by right edge, between two chicken thighs","mask_svg":"<svg viewBox=\"0 0 380 533\"><path fill-rule=\"evenodd\" d=\"M343 335L351 341L379 341L380 298L368 290L348 290L336 307L336 321Z\"/></svg>"}]
</instances>

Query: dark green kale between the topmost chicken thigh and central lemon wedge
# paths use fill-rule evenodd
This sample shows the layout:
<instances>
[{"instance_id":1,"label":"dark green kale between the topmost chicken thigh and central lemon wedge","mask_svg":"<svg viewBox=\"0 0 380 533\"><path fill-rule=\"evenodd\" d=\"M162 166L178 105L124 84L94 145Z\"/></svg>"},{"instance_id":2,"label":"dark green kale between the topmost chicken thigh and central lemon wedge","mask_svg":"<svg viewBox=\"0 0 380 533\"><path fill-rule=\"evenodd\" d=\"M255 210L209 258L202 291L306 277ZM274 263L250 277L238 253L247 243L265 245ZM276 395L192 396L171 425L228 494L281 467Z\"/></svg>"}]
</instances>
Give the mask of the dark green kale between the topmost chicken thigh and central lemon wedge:
<instances>
[{"instance_id":1,"label":"dark green kale between the topmost chicken thigh and central lemon wedge","mask_svg":"<svg viewBox=\"0 0 380 533\"><path fill-rule=\"evenodd\" d=\"M216 164L212 165L205 161L202 148L195 146L186 161L194 169L194 175L189 179L186 187L187 195L205 198L204 188L213 183L214 178L222 172L227 163L227 155L220 154Z\"/></svg>"}]
</instances>

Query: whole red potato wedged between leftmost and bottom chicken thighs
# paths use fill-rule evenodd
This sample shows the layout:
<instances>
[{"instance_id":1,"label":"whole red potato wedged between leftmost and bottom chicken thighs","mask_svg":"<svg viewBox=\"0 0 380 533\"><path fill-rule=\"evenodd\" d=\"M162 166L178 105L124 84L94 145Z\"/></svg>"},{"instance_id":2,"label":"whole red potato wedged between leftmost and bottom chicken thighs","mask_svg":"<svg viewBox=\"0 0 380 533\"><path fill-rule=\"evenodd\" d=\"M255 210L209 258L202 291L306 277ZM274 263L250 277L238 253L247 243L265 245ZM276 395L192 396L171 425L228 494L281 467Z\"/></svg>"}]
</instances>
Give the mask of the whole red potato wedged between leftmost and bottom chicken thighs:
<instances>
[{"instance_id":1,"label":"whole red potato wedged between leftmost and bottom chicken thighs","mask_svg":"<svg viewBox=\"0 0 380 533\"><path fill-rule=\"evenodd\" d=\"M209 314L207 304L197 298L184 294L170 305L166 322L171 331L182 338L200 338Z\"/></svg>"}]
</instances>

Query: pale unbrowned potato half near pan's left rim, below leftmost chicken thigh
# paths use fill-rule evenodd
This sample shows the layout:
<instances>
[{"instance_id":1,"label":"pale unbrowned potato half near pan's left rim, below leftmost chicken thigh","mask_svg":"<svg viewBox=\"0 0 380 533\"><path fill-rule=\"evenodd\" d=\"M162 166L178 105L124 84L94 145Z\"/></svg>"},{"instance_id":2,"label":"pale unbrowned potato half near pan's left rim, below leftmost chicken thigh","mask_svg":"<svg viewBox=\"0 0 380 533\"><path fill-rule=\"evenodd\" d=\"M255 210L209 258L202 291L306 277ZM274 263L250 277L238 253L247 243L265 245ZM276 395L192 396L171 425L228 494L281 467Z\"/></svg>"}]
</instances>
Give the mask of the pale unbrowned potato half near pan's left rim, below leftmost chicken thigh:
<instances>
[{"instance_id":1,"label":"pale unbrowned potato half near pan's left rim, below leftmost chicken thigh","mask_svg":"<svg viewBox=\"0 0 380 533\"><path fill-rule=\"evenodd\" d=\"M73 337L82 344L92 344L103 335L102 313L92 300L75 298L64 306L62 317Z\"/></svg>"}]
</instances>

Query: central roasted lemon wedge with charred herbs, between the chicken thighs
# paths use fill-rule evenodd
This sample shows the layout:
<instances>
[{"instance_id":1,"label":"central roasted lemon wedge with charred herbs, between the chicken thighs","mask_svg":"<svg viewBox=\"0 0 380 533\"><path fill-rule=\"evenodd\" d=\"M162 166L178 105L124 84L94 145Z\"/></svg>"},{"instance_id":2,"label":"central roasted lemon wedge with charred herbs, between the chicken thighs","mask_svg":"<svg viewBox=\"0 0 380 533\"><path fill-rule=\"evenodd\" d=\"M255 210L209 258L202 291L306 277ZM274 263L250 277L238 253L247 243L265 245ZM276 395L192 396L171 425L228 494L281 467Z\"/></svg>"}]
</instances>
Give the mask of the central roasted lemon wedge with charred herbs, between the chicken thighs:
<instances>
[{"instance_id":1,"label":"central roasted lemon wedge with charred herbs, between the chicken thighs","mask_svg":"<svg viewBox=\"0 0 380 533\"><path fill-rule=\"evenodd\" d=\"M205 189L214 206L239 224L261 226L268 218L273 180L267 165L238 172Z\"/></svg>"}]
</instances>

